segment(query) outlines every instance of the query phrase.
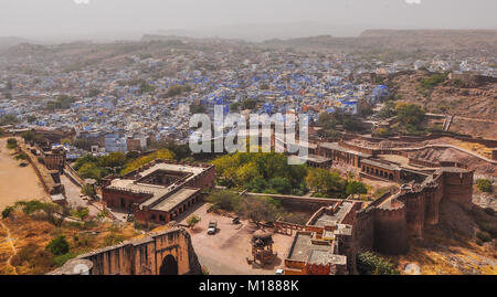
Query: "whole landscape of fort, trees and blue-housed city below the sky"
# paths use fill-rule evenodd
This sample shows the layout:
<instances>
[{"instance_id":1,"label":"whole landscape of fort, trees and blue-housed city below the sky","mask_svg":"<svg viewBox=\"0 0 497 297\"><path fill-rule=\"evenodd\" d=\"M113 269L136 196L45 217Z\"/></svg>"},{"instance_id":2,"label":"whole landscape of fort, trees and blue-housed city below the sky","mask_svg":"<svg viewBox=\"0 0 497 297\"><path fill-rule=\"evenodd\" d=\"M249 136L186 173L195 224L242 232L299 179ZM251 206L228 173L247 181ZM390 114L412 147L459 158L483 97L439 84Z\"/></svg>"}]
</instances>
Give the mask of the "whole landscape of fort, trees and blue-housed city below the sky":
<instances>
[{"instance_id":1,"label":"whole landscape of fort, trees and blue-housed city below the sky","mask_svg":"<svg viewBox=\"0 0 497 297\"><path fill-rule=\"evenodd\" d=\"M2 275L496 275L497 31L0 38L0 177Z\"/></svg>"}]
</instances>

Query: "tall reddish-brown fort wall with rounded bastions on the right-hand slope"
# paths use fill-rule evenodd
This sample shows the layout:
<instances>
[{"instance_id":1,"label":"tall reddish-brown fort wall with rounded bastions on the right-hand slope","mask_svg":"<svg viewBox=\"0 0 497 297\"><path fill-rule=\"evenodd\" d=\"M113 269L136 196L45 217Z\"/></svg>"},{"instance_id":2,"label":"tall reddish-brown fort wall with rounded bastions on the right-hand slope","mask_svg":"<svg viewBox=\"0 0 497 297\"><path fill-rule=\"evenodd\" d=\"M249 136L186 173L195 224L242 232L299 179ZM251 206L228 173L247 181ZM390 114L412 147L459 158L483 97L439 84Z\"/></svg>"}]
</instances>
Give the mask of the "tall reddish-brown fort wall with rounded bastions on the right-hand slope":
<instances>
[{"instance_id":1,"label":"tall reddish-brown fort wall with rounded bastions on the right-hand slope","mask_svg":"<svg viewBox=\"0 0 497 297\"><path fill-rule=\"evenodd\" d=\"M470 208L473 171L442 168L422 184L404 187L395 195L382 197L357 213L358 251L406 253L409 236L423 237L425 225L438 223L442 199Z\"/></svg>"}]
</instances>

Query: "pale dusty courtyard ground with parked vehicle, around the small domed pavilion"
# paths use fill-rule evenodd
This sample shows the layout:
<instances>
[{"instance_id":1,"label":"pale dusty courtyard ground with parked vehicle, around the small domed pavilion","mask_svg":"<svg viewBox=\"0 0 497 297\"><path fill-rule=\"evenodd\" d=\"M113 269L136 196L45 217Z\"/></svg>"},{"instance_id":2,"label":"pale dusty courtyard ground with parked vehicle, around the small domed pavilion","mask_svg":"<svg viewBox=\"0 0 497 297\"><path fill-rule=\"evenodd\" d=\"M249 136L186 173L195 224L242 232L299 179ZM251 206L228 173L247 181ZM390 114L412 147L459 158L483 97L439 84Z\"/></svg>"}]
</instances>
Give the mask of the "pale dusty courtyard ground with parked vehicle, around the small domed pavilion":
<instances>
[{"instance_id":1,"label":"pale dusty courtyard ground with parked vehicle, around the small domed pavilion","mask_svg":"<svg viewBox=\"0 0 497 297\"><path fill-rule=\"evenodd\" d=\"M284 258L292 245L293 236L274 234L273 250L278 256L272 265L264 268L253 268L246 263L251 255L251 238L256 226L247 221L242 224L232 224L232 219L213 213L207 213L208 203L194 205L191 211L183 213L178 221L187 224L187 218L195 213L201 218L194 230L189 230L193 247L200 264L211 275L272 275L277 268L283 268ZM218 233L208 235L209 221L218 221Z\"/></svg>"}]
</instances>

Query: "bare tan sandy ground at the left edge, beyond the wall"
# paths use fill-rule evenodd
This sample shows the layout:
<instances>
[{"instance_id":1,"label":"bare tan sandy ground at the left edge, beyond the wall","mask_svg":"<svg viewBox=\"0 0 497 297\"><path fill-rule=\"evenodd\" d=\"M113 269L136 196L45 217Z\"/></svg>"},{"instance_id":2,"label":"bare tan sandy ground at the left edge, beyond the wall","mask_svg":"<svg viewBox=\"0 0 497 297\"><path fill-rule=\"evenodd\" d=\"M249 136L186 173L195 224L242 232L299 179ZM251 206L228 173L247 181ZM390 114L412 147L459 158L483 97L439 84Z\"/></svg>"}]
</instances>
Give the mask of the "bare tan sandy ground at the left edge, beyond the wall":
<instances>
[{"instance_id":1,"label":"bare tan sandy ground at the left edge, beyond the wall","mask_svg":"<svg viewBox=\"0 0 497 297\"><path fill-rule=\"evenodd\" d=\"M20 167L6 147L7 138L0 139L0 211L18 200L46 199L36 173L31 166Z\"/></svg>"}]
</instances>

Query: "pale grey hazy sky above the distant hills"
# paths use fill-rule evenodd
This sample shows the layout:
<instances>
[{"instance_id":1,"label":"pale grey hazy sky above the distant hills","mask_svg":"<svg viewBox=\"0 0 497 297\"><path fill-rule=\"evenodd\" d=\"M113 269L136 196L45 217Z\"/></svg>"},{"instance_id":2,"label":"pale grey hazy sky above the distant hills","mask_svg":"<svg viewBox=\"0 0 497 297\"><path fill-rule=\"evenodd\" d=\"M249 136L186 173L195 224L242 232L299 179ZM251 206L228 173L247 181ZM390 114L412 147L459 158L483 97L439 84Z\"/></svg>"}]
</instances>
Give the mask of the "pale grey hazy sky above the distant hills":
<instances>
[{"instance_id":1,"label":"pale grey hazy sky above the distant hills","mask_svg":"<svg viewBox=\"0 0 497 297\"><path fill-rule=\"evenodd\" d=\"M0 0L0 36L118 36L306 22L495 29L496 14L497 0Z\"/></svg>"}]
</instances>

